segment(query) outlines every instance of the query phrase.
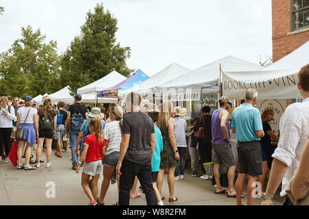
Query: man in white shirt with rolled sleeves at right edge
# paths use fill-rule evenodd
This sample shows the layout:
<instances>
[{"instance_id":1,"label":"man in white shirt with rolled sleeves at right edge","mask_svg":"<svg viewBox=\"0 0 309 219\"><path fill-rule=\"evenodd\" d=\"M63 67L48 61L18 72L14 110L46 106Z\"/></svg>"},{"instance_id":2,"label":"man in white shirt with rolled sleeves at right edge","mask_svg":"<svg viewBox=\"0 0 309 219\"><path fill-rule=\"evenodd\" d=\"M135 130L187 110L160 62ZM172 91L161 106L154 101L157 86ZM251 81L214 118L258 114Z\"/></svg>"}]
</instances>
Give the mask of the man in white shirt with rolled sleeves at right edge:
<instances>
[{"instance_id":1,"label":"man in white shirt with rolled sleeves at right edge","mask_svg":"<svg viewBox=\"0 0 309 219\"><path fill-rule=\"evenodd\" d=\"M299 166L301 153L307 141L309 124L309 64L298 73L297 88L302 96L302 103L293 103L286 108L280 118L280 138L273 153L273 164L262 205L273 205L273 196L282 182L281 196L286 195L286 188ZM286 197L284 205L291 205Z\"/></svg>"}]
</instances>

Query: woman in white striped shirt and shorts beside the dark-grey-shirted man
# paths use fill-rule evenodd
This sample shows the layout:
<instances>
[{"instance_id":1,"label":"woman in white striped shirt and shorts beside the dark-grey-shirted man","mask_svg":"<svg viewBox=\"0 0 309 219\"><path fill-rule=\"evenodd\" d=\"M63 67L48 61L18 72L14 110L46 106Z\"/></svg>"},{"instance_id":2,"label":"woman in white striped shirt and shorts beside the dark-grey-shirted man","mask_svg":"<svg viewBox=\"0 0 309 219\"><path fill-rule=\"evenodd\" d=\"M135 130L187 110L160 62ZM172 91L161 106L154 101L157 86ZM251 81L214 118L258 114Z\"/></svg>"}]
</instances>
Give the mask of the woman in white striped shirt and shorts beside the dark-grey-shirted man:
<instances>
[{"instance_id":1,"label":"woman in white striped shirt and shorts beside the dark-grey-shirted man","mask_svg":"<svg viewBox=\"0 0 309 219\"><path fill-rule=\"evenodd\" d=\"M103 167L103 181L101 185L101 194L98 198L99 205L104 205L104 198L109 187L109 183L113 172L117 166L120 143L122 142L122 119L124 110L119 105L111 107L110 116L108 119L111 122L107 123L104 129L104 139L106 145L106 152L102 156L104 162ZM117 175L118 193L119 193L119 175ZM117 203L116 203L117 205Z\"/></svg>"}]
</instances>

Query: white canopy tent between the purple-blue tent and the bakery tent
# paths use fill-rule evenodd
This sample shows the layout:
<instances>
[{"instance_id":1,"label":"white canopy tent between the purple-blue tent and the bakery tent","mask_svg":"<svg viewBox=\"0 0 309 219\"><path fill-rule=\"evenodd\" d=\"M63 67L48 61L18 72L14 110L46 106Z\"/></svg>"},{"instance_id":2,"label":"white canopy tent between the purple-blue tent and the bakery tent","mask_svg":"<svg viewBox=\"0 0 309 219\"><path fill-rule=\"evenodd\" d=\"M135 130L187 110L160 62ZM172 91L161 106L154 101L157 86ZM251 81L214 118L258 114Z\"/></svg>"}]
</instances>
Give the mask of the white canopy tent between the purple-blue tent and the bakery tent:
<instances>
[{"instance_id":1,"label":"white canopy tent between the purple-blue tent and the bakery tent","mask_svg":"<svg viewBox=\"0 0 309 219\"><path fill-rule=\"evenodd\" d=\"M133 88L130 88L128 90L124 90L124 94L127 94L129 92L135 91L139 92L143 96L148 92L153 92L153 89L156 86L160 86L161 84L168 82L176 77L179 77L185 73L190 71L188 68L185 68L181 66L180 64L177 64L173 62L172 64L166 66L162 70L160 70L155 75L152 75L149 79L146 81L143 81Z\"/></svg>"}]
</instances>

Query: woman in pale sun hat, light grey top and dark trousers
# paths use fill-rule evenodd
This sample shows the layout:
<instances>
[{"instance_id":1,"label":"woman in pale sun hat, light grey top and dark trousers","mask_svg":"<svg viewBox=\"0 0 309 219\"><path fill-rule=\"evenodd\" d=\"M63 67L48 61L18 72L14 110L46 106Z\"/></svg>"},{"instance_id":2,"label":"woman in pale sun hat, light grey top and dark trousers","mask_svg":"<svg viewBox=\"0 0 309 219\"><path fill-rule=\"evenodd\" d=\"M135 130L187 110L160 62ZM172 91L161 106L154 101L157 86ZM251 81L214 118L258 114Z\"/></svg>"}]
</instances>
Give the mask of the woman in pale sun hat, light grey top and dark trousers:
<instances>
[{"instance_id":1,"label":"woman in pale sun hat, light grey top and dark trousers","mask_svg":"<svg viewBox=\"0 0 309 219\"><path fill-rule=\"evenodd\" d=\"M180 168L176 166L174 177L175 180L183 179L184 170L185 170L185 152L187 150L187 140L185 139L185 130L187 129L187 122L183 119L183 116L187 114L187 110L180 106L174 107L175 112L175 126L174 126L174 135L176 138L176 145L179 151L180 157Z\"/></svg>"}]
</instances>

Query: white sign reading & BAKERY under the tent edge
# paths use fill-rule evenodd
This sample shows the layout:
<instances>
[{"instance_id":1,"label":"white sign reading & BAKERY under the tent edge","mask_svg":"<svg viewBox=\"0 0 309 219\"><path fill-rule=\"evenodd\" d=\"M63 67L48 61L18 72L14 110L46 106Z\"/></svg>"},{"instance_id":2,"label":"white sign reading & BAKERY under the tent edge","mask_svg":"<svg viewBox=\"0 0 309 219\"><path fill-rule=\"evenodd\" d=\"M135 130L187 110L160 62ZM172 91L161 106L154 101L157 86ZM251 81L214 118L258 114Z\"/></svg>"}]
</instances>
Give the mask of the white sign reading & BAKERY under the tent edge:
<instances>
[{"instance_id":1,"label":"white sign reading & BAKERY under the tent edge","mask_svg":"<svg viewBox=\"0 0 309 219\"><path fill-rule=\"evenodd\" d=\"M163 90L163 101L200 101L201 88L170 88Z\"/></svg>"}]
</instances>

